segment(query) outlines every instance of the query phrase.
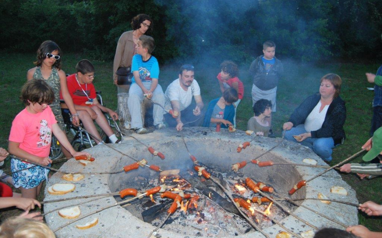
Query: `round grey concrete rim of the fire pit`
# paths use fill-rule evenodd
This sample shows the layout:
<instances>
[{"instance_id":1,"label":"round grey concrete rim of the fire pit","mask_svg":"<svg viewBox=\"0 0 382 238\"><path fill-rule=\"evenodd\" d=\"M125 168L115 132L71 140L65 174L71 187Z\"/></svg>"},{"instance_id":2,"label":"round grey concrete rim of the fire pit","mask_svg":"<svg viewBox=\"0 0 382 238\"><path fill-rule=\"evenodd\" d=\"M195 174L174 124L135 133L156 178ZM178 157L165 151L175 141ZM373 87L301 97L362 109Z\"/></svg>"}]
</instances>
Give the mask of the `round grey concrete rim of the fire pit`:
<instances>
[{"instance_id":1,"label":"round grey concrete rim of the fire pit","mask_svg":"<svg viewBox=\"0 0 382 238\"><path fill-rule=\"evenodd\" d=\"M240 143L250 141L252 139L252 137L246 135L243 131L230 133L227 130L222 129L221 132L215 132L210 128L195 127L185 128L183 130L183 135L190 152L195 155L200 162L220 166L222 168L222 172L224 172L224 170L230 171L231 164L233 163L255 158L257 155L277 145L277 143L281 140L280 138L271 139L258 137L251 143L250 147L242 150L241 153L237 153L236 148ZM125 137L122 144L113 146L135 159L146 158L148 164L159 165L162 170L181 168L184 166L185 161L188 162L189 160L188 153L184 147L180 133L175 129L169 128L157 130L153 133L145 135L134 134L134 137L165 154L166 159L161 160L158 157L153 157L145 146L129 137ZM62 171L84 173L110 172L118 171L122 169L123 166L134 162L133 160L122 156L104 145L99 145L89 149L88 152L96 158L94 162L88 164L87 166L83 166L79 164L78 161L71 159L61 167ZM283 141L281 145L261 157L260 160L302 163L304 158L315 159L318 161L317 165L327 165L308 148L287 141ZM258 178L262 182L274 187L278 193L287 197L289 197L287 195L288 190L292 188L296 182L312 178L314 175L317 175L322 171L323 168L294 167L291 165L258 167L255 164L248 164L243 169L240 169L240 172L244 175L251 176L255 179ZM45 190L44 200L116 192L122 189L122 186L126 180L139 176L140 174L150 174L152 177L158 177L158 173L150 170L148 167L140 167L137 171L131 171L128 173L123 172L112 175L85 175L85 179L78 182L67 182L62 180L61 177L63 174L56 173L48 181L47 187L55 183L73 183L76 185L76 189L71 193L61 196L50 195ZM343 196L331 193L330 188L332 186L344 187L348 194ZM303 187L291 197L317 198L317 194L319 192L328 196L329 199L358 203L354 190L352 190L351 187L348 186L341 179L340 175L334 170L311 181L306 187ZM79 202L91 199L94 198L47 203L44 205L44 212L68 205L76 205ZM80 205L79 208L81 210L81 216L105 206L112 205L113 203L116 203L116 199L114 197L106 197ZM302 204L346 225L358 224L358 211L355 207L335 202L332 202L330 205L326 205L317 200L304 200L302 201ZM319 215L315 215L313 212L301 207L295 209L294 213L298 217L301 217L319 228L337 227L344 229L344 227L341 227L337 223L329 221ZM79 230L74 226L75 224L85 224L95 217L99 218L99 222L96 226L90 229ZM60 217L57 212L50 213L46 216L46 222L52 230L60 227L68 221L70 220ZM286 217L281 222L284 226L295 233L314 230L310 226L298 221L292 216ZM69 226L57 231L56 235L58 237L147 237L150 231L154 228L155 227L151 224L145 223L137 217L131 215L124 208L116 206L91 215L83 220L77 221L76 223L70 224ZM283 231L283 229L279 225L272 225L264 228L264 231L268 233L270 237L275 237L276 234ZM166 230L166 225L162 229L159 229L157 233L157 237L197 237L191 235L186 236L182 233L168 231ZM203 236L207 237L207 234L204 234ZM263 237L263 235L252 229L250 232L239 234L236 237Z\"/></svg>"}]
</instances>

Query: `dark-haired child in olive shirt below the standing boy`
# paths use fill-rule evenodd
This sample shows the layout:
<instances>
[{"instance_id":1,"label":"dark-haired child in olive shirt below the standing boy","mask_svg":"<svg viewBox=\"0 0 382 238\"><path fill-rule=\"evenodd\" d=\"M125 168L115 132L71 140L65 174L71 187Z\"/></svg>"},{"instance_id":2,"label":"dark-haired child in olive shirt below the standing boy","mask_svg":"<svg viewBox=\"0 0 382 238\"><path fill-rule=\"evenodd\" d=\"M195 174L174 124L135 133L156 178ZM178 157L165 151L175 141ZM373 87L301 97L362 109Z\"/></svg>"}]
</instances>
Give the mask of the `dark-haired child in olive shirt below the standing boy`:
<instances>
[{"instance_id":1,"label":"dark-haired child in olive shirt below the standing boy","mask_svg":"<svg viewBox=\"0 0 382 238\"><path fill-rule=\"evenodd\" d=\"M269 122L267 118L272 114L272 103L267 99L260 99L253 105L254 117L248 120L247 130L253 130L256 135L268 137Z\"/></svg>"}]
</instances>

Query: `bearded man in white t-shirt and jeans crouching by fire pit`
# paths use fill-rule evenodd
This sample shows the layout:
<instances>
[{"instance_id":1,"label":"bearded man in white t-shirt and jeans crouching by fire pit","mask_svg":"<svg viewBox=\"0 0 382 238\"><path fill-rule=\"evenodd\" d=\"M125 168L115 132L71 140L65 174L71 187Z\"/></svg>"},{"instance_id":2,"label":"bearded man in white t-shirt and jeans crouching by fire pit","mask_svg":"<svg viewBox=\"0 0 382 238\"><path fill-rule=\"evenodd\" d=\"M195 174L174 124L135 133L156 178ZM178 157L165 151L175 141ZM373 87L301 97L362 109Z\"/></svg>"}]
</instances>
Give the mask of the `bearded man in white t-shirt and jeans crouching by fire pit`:
<instances>
[{"instance_id":1,"label":"bearded man in white t-shirt and jeans crouching by fire pit","mask_svg":"<svg viewBox=\"0 0 382 238\"><path fill-rule=\"evenodd\" d=\"M191 106L192 99L195 99L195 109ZM198 126L201 124L202 109L204 107L200 87L194 80L194 66L184 64L180 67L179 78L174 80L165 93L166 111L172 110L175 115L165 113L166 122L169 127L176 127L182 130L183 126ZM176 115L179 113L179 115ZM176 116L176 117L175 117Z\"/></svg>"}]
</instances>

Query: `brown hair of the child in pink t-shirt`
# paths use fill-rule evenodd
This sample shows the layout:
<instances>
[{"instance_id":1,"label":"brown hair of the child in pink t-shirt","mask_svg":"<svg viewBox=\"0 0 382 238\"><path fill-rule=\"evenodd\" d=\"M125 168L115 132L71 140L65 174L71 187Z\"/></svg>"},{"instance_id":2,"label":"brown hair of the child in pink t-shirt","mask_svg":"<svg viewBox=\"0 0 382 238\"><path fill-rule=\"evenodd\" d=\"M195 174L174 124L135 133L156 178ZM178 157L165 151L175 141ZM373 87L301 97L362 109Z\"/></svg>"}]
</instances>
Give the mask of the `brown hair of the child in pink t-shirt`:
<instances>
[{"instance_id":1,"label":"brown hair of the child in pink t-shirt","mask_svg":"<svg viewBox=\"0 0 382 238\"><path fill-rule=\"evenodd\" d=\"M22 86L20 99L25 106L30 103L51 104L54 93L45 80L32 79Z\"/></svg>"}]
</instances>

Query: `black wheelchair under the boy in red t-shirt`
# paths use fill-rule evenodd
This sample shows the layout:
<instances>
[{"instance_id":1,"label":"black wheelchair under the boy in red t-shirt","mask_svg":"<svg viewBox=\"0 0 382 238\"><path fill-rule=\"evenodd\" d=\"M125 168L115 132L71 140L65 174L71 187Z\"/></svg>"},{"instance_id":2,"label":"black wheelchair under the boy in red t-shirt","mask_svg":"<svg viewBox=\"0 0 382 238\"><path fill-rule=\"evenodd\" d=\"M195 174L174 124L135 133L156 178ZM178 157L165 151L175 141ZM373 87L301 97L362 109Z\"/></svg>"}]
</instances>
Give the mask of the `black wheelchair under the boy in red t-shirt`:
<instances>
[{"instance_id":1,"label":"black wheelchair under the boy in red t-shirt","mask_svg":"<svg viewBox=\"0 0 382 238\"><path fill-rule=\"evenodd\" d=\"M99 103L103 105L103 100L101 96L101 91L96 91L97 100ZM62 104L65 104L65 101L61 100ZM66 128L66 134L68 136L69 142L71 143L72 147L76 151L85 150L89 147L94 147L96 145L95 141L90 137L90 134L83 129L76 127L72 124L72 118L69 112L69 109L61 109L62 116L64 118L65 128ZM117 133L119 133L119 127L116 121L113 120L107 113L103 113L106 117L106 120L108 124L113 128L116 128ZM80 121L80 126L84 128L84 125ZM109 143L109 139L107 135L101 131L101 140L105 143ZM122 136L122 135L121 135ZM72 138L72 139L71 139ZM58 159L61 158L64 154L61 151L60 142L57 140L54 135L52 135L52 141L51 141L51 147L50 147L50 159Z\"/></svg>"}]
</instances>

